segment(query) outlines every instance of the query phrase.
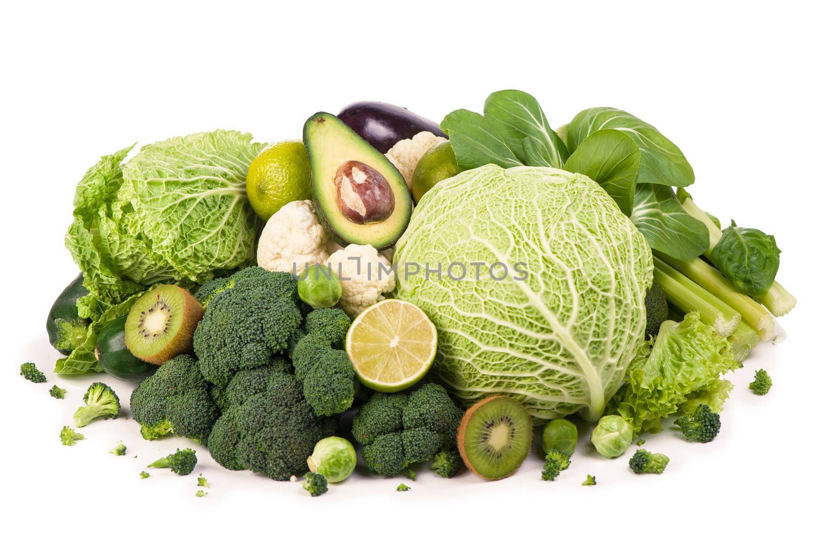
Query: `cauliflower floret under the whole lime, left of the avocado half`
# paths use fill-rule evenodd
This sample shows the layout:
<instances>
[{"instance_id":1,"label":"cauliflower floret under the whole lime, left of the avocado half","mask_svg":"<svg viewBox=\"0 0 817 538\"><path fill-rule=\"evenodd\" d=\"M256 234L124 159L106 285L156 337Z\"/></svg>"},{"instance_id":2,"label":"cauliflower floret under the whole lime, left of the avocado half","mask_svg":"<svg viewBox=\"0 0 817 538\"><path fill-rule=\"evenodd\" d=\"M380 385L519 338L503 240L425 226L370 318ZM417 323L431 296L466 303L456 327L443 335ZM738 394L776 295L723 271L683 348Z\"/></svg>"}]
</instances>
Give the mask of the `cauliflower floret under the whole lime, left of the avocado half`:
<instances>
[{"instance_id":1,"label":"cauliflower floret under the whole lime, left of the avocado half","mask_svg":"<svg viewBox=\"0 0 817 538\"><path fill-rule=\"evenodd\" d=\"M281 207L266 221L258 240L257 259L268 271L301 274L307 264L328 258L326 231L312 209L311 200L297 200Z\"/></svg>"}]
</instances>

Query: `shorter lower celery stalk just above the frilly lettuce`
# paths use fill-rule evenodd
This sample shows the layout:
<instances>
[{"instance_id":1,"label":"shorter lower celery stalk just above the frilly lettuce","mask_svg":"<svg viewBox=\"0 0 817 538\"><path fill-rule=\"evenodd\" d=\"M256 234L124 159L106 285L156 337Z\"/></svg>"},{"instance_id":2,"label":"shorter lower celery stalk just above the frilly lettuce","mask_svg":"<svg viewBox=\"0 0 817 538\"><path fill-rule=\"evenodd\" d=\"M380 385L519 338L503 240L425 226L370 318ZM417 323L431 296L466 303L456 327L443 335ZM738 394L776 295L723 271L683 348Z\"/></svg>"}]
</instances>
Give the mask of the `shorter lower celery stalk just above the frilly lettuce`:
<instances>
[{"instance_id":1,"label":"shorter lower celery stalk just above the frilly lettuce","mask_svg":"<svg viewBox=\"0 0 817 538\"><path fill-rule=\"evenodd\" d=\"M654 260L653 278L667 300L684 313L698 311L701 319L715 327L720 336L730 336L738 327L740 314L722 300L686 278L662 260Z\"/></svg>"}]
</instances>

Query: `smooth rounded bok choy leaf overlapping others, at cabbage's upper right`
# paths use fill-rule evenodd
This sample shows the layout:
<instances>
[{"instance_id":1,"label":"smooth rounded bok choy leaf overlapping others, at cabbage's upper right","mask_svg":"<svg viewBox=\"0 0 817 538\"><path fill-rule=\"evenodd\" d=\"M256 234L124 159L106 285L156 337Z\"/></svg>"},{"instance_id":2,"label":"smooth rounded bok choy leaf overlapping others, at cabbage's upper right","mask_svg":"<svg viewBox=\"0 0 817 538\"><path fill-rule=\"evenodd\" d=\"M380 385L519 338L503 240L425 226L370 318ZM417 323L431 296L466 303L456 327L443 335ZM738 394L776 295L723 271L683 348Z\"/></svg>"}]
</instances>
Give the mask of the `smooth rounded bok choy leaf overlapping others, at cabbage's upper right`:
<instances>
[{"instance_id":1,"label":"smooth rounded bok choy leaf overlapping others, at cabbage's upper right","mask_svg":"<svg viewBox=\"0 0 817 538\"><path fill-rule=\"evenodd\" d=\"M601 129L587 136L565 162L565 170L595 180L630 216L641 152L621 131Z\"/></svg>"}]
</instances>

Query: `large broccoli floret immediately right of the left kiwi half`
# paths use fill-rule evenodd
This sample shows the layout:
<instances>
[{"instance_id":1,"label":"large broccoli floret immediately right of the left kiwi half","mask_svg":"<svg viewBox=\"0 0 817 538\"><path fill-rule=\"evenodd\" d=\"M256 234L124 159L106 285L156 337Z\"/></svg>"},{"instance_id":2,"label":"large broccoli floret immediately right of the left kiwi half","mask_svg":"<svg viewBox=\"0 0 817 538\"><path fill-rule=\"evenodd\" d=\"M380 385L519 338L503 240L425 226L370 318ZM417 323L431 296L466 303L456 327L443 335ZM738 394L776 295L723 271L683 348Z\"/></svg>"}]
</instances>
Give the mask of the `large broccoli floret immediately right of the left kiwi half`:
<instances>
[{"instance_id":1,"label":"large broccoli floret immediately right of the left kiwi half","mask_svg":"<svg viewBox=\"0 0 817 538\"><path fill-rule=\"evenodd\" d=\"M236 280L210 301L194 332L204 379L223 387L237 371L270 364L301 325L299 305L297 280L289 273Z\"/></svg>"}]
</instances>

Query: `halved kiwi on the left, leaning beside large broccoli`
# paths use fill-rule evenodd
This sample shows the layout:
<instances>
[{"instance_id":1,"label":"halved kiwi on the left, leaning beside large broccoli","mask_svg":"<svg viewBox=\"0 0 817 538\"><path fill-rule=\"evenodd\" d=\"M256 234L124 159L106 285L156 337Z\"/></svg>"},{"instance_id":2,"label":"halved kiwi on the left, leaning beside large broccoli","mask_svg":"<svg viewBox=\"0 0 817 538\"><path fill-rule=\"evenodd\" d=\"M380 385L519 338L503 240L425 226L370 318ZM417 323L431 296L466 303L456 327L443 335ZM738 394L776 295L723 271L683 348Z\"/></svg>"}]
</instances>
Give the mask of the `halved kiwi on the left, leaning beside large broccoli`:
<instances>
[{"instance_id":1,"label":"halved kiwi on the left, leaning beside large broccoli","mask_svg":"<svg viewBox=\"0 0 817 538\"><path fill-rule=\"evenodd\" d=\"M145 362L164 364L193 350L193 331L203 315L202 305L185 288L156 287L136 300L127 313L125 345Z\"/></svg>"}]
</instances>

